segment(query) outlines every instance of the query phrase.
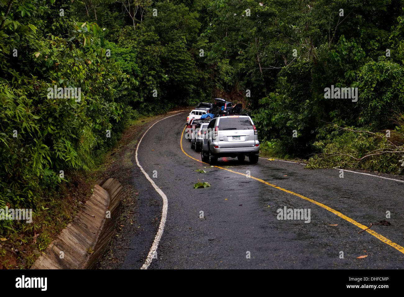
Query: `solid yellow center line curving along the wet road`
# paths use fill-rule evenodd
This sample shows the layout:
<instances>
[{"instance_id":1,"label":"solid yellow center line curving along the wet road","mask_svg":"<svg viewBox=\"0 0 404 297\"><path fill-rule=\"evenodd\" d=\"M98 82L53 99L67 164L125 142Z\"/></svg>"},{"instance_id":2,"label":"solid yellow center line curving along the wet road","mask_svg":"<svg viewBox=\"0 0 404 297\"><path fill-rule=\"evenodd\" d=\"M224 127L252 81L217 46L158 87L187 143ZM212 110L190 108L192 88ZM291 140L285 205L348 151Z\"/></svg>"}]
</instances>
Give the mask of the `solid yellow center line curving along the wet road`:
<instances>
[{"instance_id":1,"label":"solid yellow center line curving along the wet road","mask_svg":"<svg viewBox=\"0 0 404 297\"><path fill-rule=\"evenodd\" d=\"M186 128L186 126L185 126L185 128ZM198 162L201 162L201 163L204 163L204 164L208 164L208 163L202 162L201 160L195 159L194 157L189 156L189 155L184 151L183 146L182 146L182 139L183 139L183 136L184 136L185 128L184 128L184 130L182 131L182 134L181 134L181 141L180 141L182 152L183 152L185 155L187 155L189 158L194 159L195 161L198 161ZM215 167L216 167L216 168L223 169L223 170L226 170L226 171L230 171L231 173L236 173L236 174L245 176L244 173L240 173L240 172L237 172L237 171L233 171L233 170L230 170L230 169L227 169L227 168L223 168L223 167L220 167L220 166L215 166ZM259 181L259 182L261 182L261 183L265 183L266 185L270 185L271 187L274 187L274 188L276 188L276 189L278 189L278 190L281 190L281 191L283 191L283 192L286 192L286 193L295 195L295 196L297 196L297 197L299 197L299 198L302 198L302 199L304 199L304 200L307 200L307 201L309 201L309 202L311 202L311 203L314 203L314 204L316 204L316 205L322 207L323 209L326 209L327 211L330 211L331 213L333 213L333 214L335 214L335 215L341 217L341 218L344 219L345 221L348 221L349 223L352 223L353 225L359 227L359 228L362 229L362 230L365 230L365 229L368 228L367 226L362 225L361 223L358 223L358 222L355 221L354 219L351 219L350 217L347 217L346 215L343 215L343 214L340 213L339 211L336 211L335 209L332 209L331 207L326 206L325 204L322 204L322 203L320 203L320 202L317 202L316 200L313 200L313 199L307 198L306 196L303 196L303 195L297 194L297 193L295 193L295 192L286 190L286 189L284 189L284 188L282 188L282 187L278 187L277 185L274 185L274 184L272 184L272 183L268 183L267 181L264 181L263 179L259 179L259 178L257 178L257 177L253 177L253 176L250 176L250 178L255 179L256 181ZM385 244L388 244L389 246L392 246L394 249L396 249L396 250L398 250L398 251L400 251L401 253L404 254L404 247L400 246L400 245L397 244L396 242L392 242L392 241L389 240L388 238L385 238L383 235L381 235L381 234L379 234L379 233L377 233L377 232L375 232L375 231L373 231L373 230L367 229L366 232L368 232L369 234L375 236L377 239L383 241Z\"/></svg>"}]
</instances>

